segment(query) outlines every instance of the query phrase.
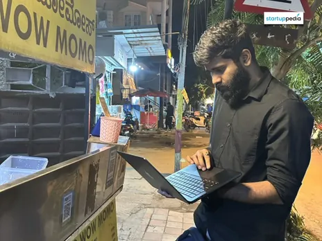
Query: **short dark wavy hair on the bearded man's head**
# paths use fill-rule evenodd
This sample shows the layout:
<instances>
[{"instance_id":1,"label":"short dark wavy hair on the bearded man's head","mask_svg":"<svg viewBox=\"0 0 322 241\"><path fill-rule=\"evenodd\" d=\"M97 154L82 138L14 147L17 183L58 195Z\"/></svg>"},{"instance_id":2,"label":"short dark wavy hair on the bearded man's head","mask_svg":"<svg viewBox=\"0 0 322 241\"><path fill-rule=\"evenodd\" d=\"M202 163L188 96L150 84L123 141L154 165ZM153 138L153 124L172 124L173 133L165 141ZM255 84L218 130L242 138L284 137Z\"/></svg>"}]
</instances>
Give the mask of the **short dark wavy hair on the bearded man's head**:
<instances>
[{"instance_id":1,"label":"short dark wavy hair on the bearded man's head","mask_svg":"<svg viewBox=\"0 0 322 241\"><path fill-rule=\"evenodd\" d=\"M246 25L238 20L225 20L203 33L194 51L194 62L197 66L205 66L219 56L237 62L245 48L255 60L255 49Z\"/></svg>"}]
</instances>

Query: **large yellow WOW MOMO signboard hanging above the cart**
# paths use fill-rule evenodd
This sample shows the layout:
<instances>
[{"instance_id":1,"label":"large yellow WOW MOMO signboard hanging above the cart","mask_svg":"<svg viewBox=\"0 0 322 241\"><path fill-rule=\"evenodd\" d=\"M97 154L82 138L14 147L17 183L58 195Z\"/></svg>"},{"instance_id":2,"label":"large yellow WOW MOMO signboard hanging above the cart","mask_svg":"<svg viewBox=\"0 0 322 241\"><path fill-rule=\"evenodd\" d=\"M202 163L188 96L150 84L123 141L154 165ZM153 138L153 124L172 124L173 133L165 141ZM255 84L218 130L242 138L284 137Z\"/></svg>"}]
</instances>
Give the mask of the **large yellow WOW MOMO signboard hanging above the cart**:
<instances>
[{"instance_id":1,"label":"large yellow WOW MOMO signboard hanging above the cart","mask_svg":"<svg viewBox=\"0 0 322 241\"><path fill-rule=\"evenodd\" d=\"M94 73L96 0L0 0L0 49Z\"/></svg>"}]
</instances>

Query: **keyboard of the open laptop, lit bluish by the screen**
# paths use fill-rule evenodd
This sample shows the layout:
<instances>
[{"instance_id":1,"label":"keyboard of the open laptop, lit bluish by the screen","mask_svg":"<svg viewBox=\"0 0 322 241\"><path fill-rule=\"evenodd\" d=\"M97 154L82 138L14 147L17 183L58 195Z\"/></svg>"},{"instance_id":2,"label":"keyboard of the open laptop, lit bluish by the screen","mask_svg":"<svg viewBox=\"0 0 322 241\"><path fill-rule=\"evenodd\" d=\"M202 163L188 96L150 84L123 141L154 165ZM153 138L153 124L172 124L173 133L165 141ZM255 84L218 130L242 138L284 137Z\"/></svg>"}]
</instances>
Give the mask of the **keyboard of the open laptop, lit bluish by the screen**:
<instances>
[{"instance_id":1,"label":"keyboard of the open laptop, lit bluish by the screen","mask_svg":"<svg viewBox=\"0 0 322 241\"><path fill-rule=\"evenodd\" d=\"M175 175L167 177L167 180L179 193L191 198L200 195L218 184L218 182L207 179L202 180L200 177L185 172L177 172Z\"/></svg>"}]
</instances>

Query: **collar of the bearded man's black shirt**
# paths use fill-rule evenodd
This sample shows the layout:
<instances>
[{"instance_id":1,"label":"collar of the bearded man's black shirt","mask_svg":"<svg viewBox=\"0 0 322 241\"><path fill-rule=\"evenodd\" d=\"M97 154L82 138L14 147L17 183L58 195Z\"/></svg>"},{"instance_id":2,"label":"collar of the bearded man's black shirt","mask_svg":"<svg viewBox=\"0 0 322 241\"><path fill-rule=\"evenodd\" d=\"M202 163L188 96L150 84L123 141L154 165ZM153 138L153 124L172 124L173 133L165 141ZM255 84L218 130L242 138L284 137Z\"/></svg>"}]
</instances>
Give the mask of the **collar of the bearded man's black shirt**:
<instances>
[{"instance_id":1,"label":"collar of the bearded man's black shirt","mask_svg":"<svg viewBox=\"0 0 322 241\"><path fill-rule=\"evenodd\" d=\"M257 82L255 87L253 87L253 89L248 93L246 98L251 97L260 101L262 100L262 97L266 93L267 87L269 87L269 83L271 82L271 79L273 78L273 76L271 75L271 72L269 71L268 68L261 66L260 69L263 72L263 76L260 79L260 81Z\"/></svg>"}]
</instances>

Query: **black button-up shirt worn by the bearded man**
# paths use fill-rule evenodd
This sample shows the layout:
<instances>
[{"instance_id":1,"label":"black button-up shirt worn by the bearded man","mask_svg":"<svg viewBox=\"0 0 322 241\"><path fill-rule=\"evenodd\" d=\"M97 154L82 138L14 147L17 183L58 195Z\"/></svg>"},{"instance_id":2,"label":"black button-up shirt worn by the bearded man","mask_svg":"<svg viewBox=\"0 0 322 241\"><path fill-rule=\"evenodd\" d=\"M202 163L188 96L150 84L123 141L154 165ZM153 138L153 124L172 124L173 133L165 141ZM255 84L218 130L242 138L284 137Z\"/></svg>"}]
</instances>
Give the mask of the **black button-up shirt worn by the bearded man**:
<instances>
[{"instance_id":1,"label":"black button-up shirt worn by the bearded man","mask_svg":"<svg viewBox=\"0 0 322 241\"><path fill-rule=\"evenodd\" d=\"M225 241L284 240L285 220L310 163L314 118L294 91L263 71L238 109L219 96L210 152L216 166L242 172L237 182L270 181L283 205L207 197L195 222L206 226L212 240L220 240L218 235Z\"/></svg>"}]
</instances>

